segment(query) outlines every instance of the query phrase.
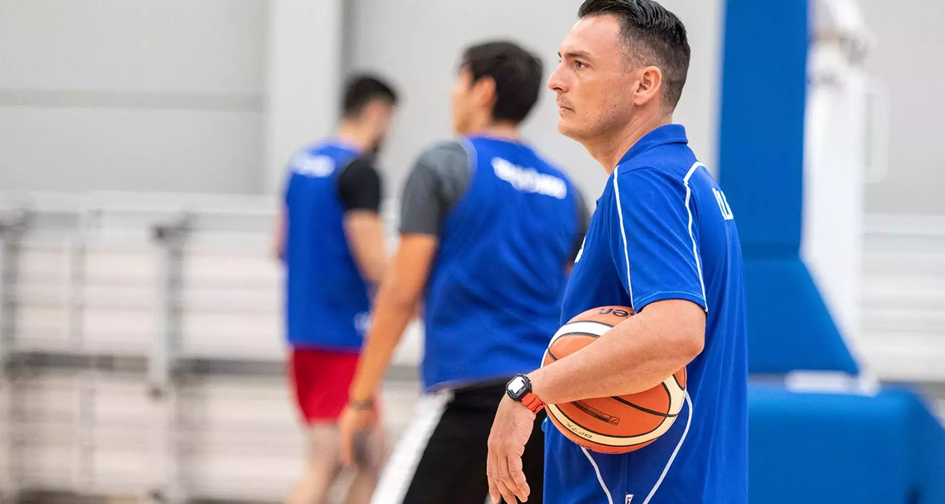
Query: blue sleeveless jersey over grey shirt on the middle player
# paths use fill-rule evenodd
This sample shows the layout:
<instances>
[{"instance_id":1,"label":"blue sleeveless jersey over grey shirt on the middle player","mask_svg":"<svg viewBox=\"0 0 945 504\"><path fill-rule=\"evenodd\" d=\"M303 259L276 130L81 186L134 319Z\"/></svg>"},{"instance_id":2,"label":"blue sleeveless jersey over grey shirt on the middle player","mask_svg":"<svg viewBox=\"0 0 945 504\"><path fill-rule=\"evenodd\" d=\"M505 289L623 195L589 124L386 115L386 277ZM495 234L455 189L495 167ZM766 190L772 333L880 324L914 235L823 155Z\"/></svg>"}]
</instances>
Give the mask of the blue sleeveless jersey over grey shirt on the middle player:
<instances>
[{"instance_id":1,"label":"blue sleeveless jersey over grey shirt on the middle player","mask_svg":"<svg viewBox=\"0 0 945 504\"><path fill-rule=\"evenodd\" d=\"M578 194L521 143L464 141L466 193L443 221L424 305L425 388L527 373L558 327Z\"/></svg>"}]
</instances>

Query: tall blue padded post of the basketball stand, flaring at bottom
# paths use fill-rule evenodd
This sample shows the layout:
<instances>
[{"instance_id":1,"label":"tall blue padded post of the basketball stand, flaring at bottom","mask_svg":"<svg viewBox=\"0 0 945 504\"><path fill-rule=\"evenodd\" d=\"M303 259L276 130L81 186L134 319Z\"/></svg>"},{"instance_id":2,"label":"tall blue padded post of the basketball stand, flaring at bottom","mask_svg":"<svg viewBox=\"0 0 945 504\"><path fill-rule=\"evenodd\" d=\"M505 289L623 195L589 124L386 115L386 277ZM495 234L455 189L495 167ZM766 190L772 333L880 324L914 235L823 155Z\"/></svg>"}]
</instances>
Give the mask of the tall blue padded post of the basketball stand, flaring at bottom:
<instances>
[{"instance_id":1,"label":"tall blue padded post of the basketball stand, flaring at bottom","mask_svg":"<svg viewBox=\"0 0 945 504\"><path fill-rule=\"evenodd\" d=\"M748 369L857 373L799 256L808 2L728 0L720 183L745 256Z\"/></svg>"}]
</instances>

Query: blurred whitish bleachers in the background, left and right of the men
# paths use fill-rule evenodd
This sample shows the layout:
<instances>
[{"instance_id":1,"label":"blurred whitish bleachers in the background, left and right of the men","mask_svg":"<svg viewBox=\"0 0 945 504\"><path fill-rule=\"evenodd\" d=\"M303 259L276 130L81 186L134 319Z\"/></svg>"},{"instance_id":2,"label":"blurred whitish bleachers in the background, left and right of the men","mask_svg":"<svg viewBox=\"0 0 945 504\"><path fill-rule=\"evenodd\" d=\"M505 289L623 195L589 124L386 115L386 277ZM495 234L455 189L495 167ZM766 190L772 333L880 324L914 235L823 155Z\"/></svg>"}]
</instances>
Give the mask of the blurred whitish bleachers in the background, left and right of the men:
<instances>
[{"instance_id":1,"label":"blurred whitish bleachers in the background, left and right of the men","mask_svg":"<svg viewBox=\"0 0 945 504\"><path fill-rule=\"evenodd\" d=\"M274 210L265 197L0 196L0 502L283 499L305 445L283 374ZM867 224L862 352L884 379L945 383L945 221ZM387 380L392 439L419 391L420 333Z\"/></svg>"}]
</instances>

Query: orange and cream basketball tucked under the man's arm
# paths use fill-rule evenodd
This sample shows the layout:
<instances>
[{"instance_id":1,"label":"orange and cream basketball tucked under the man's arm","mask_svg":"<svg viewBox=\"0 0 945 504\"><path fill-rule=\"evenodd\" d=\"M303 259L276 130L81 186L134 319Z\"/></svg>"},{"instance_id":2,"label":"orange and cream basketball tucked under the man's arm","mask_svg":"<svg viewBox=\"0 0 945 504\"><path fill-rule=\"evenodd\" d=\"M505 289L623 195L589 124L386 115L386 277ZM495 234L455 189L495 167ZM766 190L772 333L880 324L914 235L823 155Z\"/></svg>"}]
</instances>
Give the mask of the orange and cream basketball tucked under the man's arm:
<instances>
[{"instance_id":1,"label":"orange and cream basketball tucked under the man's arm","mask_svg":"<svg viewBox=\"0 0 945 504\"><path fill-rule=\"evenodd\" d=\"M558 329L541 362L546 366L593 343L633 315L627 306L593 308ZM653 443L673 425L686 393L686 369L639 393L546 405L548 418L571 441L598 453L627 453Z\"/></svg>"}]
</instances>

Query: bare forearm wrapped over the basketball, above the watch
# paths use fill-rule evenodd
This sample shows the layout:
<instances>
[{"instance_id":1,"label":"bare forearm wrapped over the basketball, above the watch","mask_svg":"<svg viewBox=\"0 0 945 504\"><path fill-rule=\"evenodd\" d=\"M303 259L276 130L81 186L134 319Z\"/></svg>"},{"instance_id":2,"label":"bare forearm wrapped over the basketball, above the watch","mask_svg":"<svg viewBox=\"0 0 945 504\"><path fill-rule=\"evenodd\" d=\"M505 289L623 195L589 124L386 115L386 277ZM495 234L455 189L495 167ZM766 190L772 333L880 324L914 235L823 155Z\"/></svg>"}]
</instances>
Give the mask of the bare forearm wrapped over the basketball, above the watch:
<instances>
[{"instance_id":1,"label":"bare forearm wrapped over the basketball, above the watch","mask_svg":"<svg viewBox=\"0 0 945 504\"><path fill-rule=\"evenodd\" d=\"M557 404L659 385L701 352L702 335L695 333L704 331L701 313L687 310L677 320L665 315L647 308L587 347L532 372L532 390L545 403Z\"/></svg>"}]
</instances>

